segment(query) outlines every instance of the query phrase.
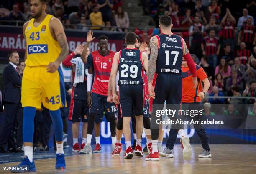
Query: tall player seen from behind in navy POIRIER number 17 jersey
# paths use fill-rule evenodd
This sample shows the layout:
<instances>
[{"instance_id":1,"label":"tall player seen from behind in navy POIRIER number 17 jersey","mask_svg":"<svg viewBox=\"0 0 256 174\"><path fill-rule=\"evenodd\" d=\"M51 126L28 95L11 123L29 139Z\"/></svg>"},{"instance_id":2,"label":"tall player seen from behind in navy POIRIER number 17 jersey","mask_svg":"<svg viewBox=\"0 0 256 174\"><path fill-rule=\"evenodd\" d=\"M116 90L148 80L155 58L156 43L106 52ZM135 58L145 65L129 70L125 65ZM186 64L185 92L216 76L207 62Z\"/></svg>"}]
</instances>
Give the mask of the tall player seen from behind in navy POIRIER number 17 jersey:
<instances>
[{"instance_id":1,"label":"tall player seen from behind in navy POIRIER number 17 jersey","mask_svg":"<svg viewBox=\"0 0 256 174\"><path fill-rule=\"evenodd\" d=\"M197 87L197 72L187 45L182 37L171 32L172 19L168 15L159 18L162 34L150 39L150 60L148 64L148 91L153 98L151 115L152 153L146 157L147 161L159 161L157 149L160 124L157 124L156 110L162 110L166 100L166 107L170 105L179 109L182 102L182 57L187 61L193 76L194 88ZM168 108L167 108L168 109ZM177 116L175 116L177 117ZM185 136L183 124L175 124L184 147L183 156L188 160L192 156L189 138ZM183 128L183 129L182 129Z\"/></svg>"}]
</instances>

